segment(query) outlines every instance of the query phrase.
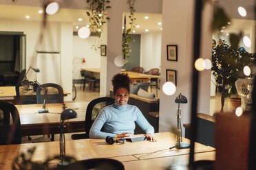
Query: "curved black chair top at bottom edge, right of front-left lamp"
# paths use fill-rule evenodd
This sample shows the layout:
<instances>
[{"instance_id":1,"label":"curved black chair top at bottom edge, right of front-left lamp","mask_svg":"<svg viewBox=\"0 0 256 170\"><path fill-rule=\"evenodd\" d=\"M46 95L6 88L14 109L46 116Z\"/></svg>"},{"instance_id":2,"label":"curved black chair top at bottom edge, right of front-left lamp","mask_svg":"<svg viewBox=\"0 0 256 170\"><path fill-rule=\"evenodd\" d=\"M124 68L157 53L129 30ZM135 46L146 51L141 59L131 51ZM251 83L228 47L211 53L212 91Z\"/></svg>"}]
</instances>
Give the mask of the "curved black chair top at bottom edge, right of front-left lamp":
<instances>
[{"instance_id":1,"label":"curved black chair top at bottom edge, right of front-left lamp","mask_svg":"<svg viewBox=\"0 0 256 170\"><path fill-rule=\"evenodd\" d=\"M93 158L88 160L79 160L69 165L67 169L98 169L98 170L124 170L122 162L109 158Z\"/></svg>"}]
</instances>

